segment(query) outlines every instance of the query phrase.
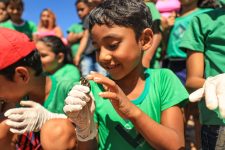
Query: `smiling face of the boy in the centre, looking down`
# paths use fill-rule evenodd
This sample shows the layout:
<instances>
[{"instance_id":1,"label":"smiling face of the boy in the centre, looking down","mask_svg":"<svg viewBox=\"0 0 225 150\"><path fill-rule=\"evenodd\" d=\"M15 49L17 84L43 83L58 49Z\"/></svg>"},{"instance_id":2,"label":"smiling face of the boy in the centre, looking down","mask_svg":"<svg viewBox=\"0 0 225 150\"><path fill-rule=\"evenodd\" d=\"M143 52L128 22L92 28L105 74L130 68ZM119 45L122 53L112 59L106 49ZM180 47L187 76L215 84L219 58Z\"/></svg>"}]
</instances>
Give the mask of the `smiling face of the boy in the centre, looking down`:
<instances>
[{"instance_id":1,"label":"smiling face of the boy in the centre, looking down","mask_svg":"<svg viewBox=\"0 0 225 150\"><path fill-rule=\"evenodd\" d=\"M142 46L133 29L94 25L91 30L97 60L114 80L120 80L140 66Z\"/></svg>"}]
</instances>

